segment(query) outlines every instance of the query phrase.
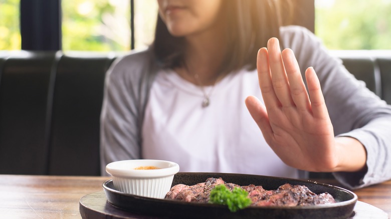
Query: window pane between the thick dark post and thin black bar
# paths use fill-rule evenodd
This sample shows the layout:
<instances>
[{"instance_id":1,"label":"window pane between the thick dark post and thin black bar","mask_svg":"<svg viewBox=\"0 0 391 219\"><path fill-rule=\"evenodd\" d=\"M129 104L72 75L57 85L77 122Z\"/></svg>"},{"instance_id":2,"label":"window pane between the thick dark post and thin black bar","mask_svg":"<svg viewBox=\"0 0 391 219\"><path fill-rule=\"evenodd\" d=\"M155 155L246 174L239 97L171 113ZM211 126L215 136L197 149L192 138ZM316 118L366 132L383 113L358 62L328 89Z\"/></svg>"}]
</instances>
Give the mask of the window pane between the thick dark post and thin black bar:
<instances>
[{"instance_id":1,"label":"window pane between the thick dark post and thin black bar","mask_svg":"<svg viewBox=\"0 0 391 219\"><path fill-rule=\"evenodd\" d=\"M129 2L62 0L63 50L130 50Z\"/></svg>"}]
</instances>

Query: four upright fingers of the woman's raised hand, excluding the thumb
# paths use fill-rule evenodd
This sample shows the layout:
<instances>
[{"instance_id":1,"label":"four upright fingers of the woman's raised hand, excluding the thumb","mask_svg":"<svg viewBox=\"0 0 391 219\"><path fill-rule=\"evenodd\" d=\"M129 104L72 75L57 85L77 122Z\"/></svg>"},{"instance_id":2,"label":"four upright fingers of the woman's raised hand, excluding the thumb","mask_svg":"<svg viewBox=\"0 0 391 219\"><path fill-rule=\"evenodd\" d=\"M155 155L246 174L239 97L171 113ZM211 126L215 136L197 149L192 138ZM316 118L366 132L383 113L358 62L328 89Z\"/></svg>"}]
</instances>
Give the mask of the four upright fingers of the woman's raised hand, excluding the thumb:
<instances>
[{"instance_id":1,"label":"four upright fingers of the woman's raised hand, excluding the thumb","mask_svg":"<svg viewBox=\"0 0 391 219\"><path fill-rule=\"evenodd\" d=\"M297 109L300 112L310 112L318 118L328 116L314 69L306 70L308 94L293 51L287 48L281 52L277 38L271 38L268 48L258 51L257 69L267 111L271 112L282 106L290 111ZM289 114L292 115L291 112Z\"/></svg>"}]
</instances>

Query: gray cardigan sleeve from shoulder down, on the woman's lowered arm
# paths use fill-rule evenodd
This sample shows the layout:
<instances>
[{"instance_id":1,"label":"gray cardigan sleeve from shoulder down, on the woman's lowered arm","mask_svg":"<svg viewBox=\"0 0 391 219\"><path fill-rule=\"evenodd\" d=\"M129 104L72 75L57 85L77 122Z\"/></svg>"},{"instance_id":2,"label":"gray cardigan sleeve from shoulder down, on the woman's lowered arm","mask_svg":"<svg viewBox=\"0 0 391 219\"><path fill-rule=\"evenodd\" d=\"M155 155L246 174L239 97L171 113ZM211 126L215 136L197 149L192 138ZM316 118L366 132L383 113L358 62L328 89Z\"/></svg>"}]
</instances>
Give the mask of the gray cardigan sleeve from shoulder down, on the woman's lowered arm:
<instances>
[{"instance_id":1,"label":"gray cardigan sleeve from shoulder down, on the woman's lowered arm","mask_svg":"<svg viewBox=\"0 0 391 219\"><path fill-rule=\"evenodd\" d=\"M107 71L100 116L101 174L108 163L141 158L140 127L151 68L147 51L118 57Z\"/></svg>"}]
</instances>

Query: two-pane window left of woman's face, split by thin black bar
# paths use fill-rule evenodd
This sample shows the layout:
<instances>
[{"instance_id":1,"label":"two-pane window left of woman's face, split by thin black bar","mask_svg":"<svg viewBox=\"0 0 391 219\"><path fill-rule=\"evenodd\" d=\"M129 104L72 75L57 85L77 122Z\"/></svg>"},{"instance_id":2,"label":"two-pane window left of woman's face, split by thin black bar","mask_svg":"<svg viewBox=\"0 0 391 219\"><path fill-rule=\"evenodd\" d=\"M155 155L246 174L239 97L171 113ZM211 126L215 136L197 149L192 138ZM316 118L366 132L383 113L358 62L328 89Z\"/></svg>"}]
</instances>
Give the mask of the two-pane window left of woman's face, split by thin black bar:
<instances>
[{"instance_id":1,"label":"two-pane window left of woman's face, split by thin black bar","mask_svg":"<svg viewBox=\"0 0 391 219\"><path fill-rule=\"evenodd\" d=\"M153 40L156 0L134 1L135 48ZM131 48L130 0L63 0L63 50L127 51Z\"/></svg>"}]
</instances>

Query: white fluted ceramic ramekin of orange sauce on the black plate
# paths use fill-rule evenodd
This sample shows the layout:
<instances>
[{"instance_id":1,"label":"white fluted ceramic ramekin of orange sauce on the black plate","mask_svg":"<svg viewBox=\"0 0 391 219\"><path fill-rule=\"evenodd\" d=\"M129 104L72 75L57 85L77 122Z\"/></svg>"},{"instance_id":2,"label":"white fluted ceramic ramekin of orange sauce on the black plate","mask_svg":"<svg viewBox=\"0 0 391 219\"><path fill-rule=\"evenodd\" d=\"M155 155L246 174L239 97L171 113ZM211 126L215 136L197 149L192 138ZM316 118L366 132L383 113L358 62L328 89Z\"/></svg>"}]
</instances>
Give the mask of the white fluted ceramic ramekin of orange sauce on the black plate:
<instances>
[{"instance_id":1,"label":"white fluted ceramic ramekin of orange sauce on the black plate","mask_svg":"<svg viewBox=\"0 0 391 219\"><path fill-rule=\"evenodd\" d=\"M157 169L135 169L140 166L155 166ZM177 163L156 159L121 160L106 165L115 189L154 198L164 198L178 171Z\"/></svg>"}]
</instances>

